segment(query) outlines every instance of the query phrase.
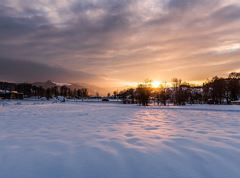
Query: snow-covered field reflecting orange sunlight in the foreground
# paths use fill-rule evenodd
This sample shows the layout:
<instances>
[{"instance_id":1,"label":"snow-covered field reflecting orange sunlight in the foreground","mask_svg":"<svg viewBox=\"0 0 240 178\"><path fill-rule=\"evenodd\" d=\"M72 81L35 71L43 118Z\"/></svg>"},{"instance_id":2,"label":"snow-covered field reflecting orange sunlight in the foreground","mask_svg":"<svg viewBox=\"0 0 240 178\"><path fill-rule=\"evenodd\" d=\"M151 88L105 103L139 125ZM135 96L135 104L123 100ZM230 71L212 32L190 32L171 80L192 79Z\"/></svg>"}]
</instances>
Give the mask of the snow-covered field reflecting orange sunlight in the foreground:
<instances>
[{"instance_id":1,"label":"snow-covered field reflecting orange sunlight in the foreground","mask_svg":"<svg viewBox=\"0 0 240 178\"><path fill-rule=\"evenodd\" d=\"M239 178L240 107L0 102L1 178Z\"/></svg>"}]
</instances>

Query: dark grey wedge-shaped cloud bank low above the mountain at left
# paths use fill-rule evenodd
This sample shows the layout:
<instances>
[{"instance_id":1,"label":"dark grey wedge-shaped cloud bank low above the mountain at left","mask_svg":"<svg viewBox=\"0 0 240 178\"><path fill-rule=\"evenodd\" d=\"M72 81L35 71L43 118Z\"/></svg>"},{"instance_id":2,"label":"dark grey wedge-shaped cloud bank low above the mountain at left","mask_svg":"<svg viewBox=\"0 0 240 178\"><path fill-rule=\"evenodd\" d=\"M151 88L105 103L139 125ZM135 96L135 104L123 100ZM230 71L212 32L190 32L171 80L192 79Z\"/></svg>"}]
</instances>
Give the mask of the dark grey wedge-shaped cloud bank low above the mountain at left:
<instances>
[{"instance_id":1,"label":"dark grey wedge-shaped cloud bank low above the mountain at left","mask_svg":"<svg viewBox=\"0 0 240 178\"><path fill-rule=\"evenodd\" d=\"M59 67L52 67L40 63L0 59L0 80L35 82L35 81L62 81L86 82L95 80L98 77L81 71L69 71Z\"/></svg>"}]
</instances>

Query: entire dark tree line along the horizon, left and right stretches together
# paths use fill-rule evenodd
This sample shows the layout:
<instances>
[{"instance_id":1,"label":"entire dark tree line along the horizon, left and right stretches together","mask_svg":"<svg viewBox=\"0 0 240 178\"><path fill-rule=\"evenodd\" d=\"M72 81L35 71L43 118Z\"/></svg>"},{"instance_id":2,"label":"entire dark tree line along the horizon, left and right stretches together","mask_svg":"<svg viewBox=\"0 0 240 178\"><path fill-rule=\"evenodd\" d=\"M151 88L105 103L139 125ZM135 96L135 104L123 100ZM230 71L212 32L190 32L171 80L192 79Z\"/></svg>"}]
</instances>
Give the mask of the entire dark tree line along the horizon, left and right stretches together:
<instances>
[{"instance_id":1,"label":"entire dark tree line along the horizon, left and right stretches together","mask_svg":"<svg viewBox=\"0 0 240 178\"><path fill-rule=\"evenodd\" d=\"M24 97L36 97L50 99L57 96L65 98L83 99L89 97L88 89L72 89L66 85L42 87L29 83L7 83L0 82L0 93L2 91L17 91ZM0 95L1 97L1 95ZM96 97L100 97L96 94ZM170 87L160 86L153 88L151 81L147 80L136 88L129 88L120 92L114 91L107 98L115 98L125 104L139 104L147 106L150 103L157 105L185 104L230 104L240 99L240 73L231 73L228 77L213 77L202 86L192 86L181 79L172 80Z\"/></svg>"}]
</instances>

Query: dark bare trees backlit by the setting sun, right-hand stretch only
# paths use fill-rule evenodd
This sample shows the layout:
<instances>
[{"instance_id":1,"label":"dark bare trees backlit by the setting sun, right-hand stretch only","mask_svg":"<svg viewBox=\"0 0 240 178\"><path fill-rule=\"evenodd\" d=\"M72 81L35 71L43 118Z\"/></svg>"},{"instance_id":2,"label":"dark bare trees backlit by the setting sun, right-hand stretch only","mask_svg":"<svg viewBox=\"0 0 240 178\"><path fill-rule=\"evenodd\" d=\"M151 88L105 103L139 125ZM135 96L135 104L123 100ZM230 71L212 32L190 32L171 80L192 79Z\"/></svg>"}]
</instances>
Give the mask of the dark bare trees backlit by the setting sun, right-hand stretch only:
<instances>
[{"instance_id":1,"label":"dark bare trees backlit by the setting sun, right-hand stretch only","mask_svg":"<svg viewBox=\"0 0 240 178\"><path fill-rule=\"evenodd\" d=\"M151 81L145 81L137 88L114 92L125 104L147 106L151 103L158 105L185 104L231 104L240 98L240 73L231 73L226 78L213 77L202 86L192 86L181 79L173 79L172 86L153 88Z\"/></svg>"}]
</instances>

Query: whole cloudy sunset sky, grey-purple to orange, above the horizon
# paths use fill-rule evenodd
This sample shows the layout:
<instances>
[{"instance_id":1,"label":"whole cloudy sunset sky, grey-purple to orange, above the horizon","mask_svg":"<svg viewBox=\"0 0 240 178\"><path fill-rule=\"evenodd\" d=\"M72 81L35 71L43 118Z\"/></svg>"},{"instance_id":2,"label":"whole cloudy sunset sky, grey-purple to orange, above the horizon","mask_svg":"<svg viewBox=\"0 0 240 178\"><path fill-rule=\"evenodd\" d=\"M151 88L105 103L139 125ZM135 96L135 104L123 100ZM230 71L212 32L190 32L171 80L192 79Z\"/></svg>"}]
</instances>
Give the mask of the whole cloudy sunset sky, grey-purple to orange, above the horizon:
<instances>
[{"instance_id":1,"label":"whole cloudy sunset sky, grey-purple to orange, above the horizon","mask_svg":"<svg viewBox=\"0 0 240 178\"><path fill-rule=\"evenodd\" d=\"M240 71L239 0L0 0L0 80L124 86Z\"/></svg>"}]
</instances>

